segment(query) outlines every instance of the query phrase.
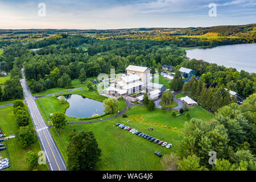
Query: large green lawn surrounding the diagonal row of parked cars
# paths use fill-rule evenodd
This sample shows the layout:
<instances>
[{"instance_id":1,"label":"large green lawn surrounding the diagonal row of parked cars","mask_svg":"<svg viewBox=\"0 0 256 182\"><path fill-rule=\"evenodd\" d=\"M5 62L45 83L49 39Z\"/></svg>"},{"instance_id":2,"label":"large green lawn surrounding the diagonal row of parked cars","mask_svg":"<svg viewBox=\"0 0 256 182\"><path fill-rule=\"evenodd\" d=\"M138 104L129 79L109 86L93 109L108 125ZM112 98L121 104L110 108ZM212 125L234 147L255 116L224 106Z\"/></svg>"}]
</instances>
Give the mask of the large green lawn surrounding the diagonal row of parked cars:
<instances>
[{"instance_id":1,"label":"large green lawn surrounding the diagonal row of parked cars","mask_svg":"<svg viewBox=\"0 0 256 182\"><path fill-rule=\"evenodd\" d=\"M201 119L212 119L210 115L199 108L189 110L192 117ZM180 140L180 129L185 121L184 115L172 117L171 113L162 113L160 109L148 111L145 106L133 106L126 111L128 118L115 118L99 123L84 125L67 125L61 129L59 135L65 146L68 146L68 134L76 131L93 131L99 147L102 150L101 161L98 163L99 170L163 170L159 158L154 154L159 151L161 154L170 154L177 151L177 142ZM130 122L127 123L127 119ZM121 130L115 123L123 123L135 128L152 137L172 143L174 147L166 148L150 142L128 131ZM152 126L154 130L148 130ZM177 129L174 129L177 127ZM55 129L50 129L64 160L67 162L67 152Z\"/></svg>"}]
</instances>

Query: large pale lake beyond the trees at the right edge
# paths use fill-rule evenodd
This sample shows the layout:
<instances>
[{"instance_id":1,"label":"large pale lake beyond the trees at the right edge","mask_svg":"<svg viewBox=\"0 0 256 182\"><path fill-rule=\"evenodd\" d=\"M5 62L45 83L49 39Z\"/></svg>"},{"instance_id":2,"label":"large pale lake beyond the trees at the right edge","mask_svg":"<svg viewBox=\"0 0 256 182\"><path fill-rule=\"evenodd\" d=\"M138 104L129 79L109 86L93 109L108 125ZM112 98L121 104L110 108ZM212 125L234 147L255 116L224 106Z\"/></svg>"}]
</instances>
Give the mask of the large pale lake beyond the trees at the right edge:
<instances>
[{"instance_id":1,"label":"large pale lake beyond the trees at the right edge","mask_svg":"<svg viewBox=\"0 0 256 182\"><path fill-rule=\"evenodd\" d=\"M190 59L204 60L237 71L256 72L256 43L218 46L206 49L189 49L186 51Z\"/></svg>"}]
</instances>

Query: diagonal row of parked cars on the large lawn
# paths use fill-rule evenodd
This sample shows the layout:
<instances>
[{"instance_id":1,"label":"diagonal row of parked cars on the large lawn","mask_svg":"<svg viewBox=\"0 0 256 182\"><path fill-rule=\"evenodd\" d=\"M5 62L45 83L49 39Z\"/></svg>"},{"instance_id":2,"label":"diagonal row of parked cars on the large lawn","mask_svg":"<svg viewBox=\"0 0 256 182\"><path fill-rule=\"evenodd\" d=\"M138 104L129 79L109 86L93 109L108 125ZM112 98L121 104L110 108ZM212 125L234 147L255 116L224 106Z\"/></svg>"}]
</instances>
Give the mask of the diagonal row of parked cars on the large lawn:
<instances>
[{"instance_id":1,"label":"diagonal row of parked cars on the large lawn","mask_svg":"<svg viewBox=\"0 0 256 182\"><path fill-rule=\"evenodd\" d=\"M172 147L171 143L164 142L164 140L163 140L164 137L162 137L162 140L161 140L161 139L155 138L153 136L150 136L148 134L141 133L141 131L138 131L136 129L132 129L131 127L126 126L122 123L116 123L115 126L119 127L120 129L126 130L127 132L130 132L131 134L136 134L138 137L142 137L144 139L147 139L152 143L157 143L159 146L166 147L166 148L171 148ZM152 127L148 127L148 130L154 130L154 129ZM159 157L162 156L162 154L160 154L160 152L158 152L158 151L155 151L155 154L158 155Z\"/></svg>"}]
</instances>

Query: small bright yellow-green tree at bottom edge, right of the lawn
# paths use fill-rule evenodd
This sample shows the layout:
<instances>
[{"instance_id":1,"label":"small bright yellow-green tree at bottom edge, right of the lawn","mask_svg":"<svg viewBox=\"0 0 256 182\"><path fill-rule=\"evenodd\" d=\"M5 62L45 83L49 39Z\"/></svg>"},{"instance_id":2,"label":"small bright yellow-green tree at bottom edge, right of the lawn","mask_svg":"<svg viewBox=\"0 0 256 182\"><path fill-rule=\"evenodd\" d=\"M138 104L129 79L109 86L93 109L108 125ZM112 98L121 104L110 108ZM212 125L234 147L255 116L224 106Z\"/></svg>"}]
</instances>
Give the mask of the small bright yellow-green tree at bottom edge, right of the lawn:
<instances>
[{"instance_id":1,"label":"small bright yellow-green tree at bottom edge, right of the lawn","mask_svg":"<svg viewBox=\"0 0 256 182\"><path fill-rule=\"evenodd\" d=\"M179 171L203 171L205 168L200 166L200 158L196 155L189 155L187 158L177 161Z\"/></svg>"}]
</instances>

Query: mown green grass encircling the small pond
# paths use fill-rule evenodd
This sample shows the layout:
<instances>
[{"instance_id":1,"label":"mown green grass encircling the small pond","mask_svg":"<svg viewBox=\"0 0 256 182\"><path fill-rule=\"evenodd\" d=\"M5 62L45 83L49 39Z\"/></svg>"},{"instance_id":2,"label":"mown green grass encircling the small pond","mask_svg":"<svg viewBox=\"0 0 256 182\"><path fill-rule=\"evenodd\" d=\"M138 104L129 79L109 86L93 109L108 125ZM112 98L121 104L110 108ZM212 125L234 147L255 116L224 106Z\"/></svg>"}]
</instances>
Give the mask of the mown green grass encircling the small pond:
<instances>
[{"instance_id":1,"label":"mown green grass encircling the small pond","mask_svg":"<svg viewBox=\"0 0 256 182\"><path fill-rule=\"evenodd\" d=\"M98 94L97 91L92 91L89 92L88 89L81 89L81 90L76 90L73 92L67 92L65 94L80 94L82 96L88 97L88 98L93 98L94 100L98 100L98 101L104 101L106 99L106 97L100 96ZM56 96L61 96L63 94L59 94ZM122 111L123 109L125 109L126 107L126 102L122 99L119 99L119 107L118 110ZM53 98L52 96L48 96L48 97L43 97L43 98L39 98L38 100L36 100L36 104L38 105L43 118L48 121L48 117L51 113L55 113L55 112L62 112L65 113L65 109L68 108L69 104L66 102L65 104L61 104L59 100ZM107 114L104 115L103 117L101 117L102 119L105 118L109 118L112 117L114 114ZM95 121L98 120L99 118L95 118L95 119L90 119L90 120L80 120L77 118L69 118L67 117L67 122L83 122L83 121Z\"/></svg>"}]
</instances>

